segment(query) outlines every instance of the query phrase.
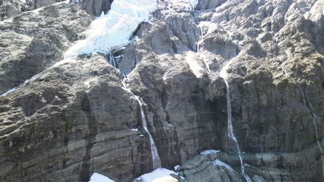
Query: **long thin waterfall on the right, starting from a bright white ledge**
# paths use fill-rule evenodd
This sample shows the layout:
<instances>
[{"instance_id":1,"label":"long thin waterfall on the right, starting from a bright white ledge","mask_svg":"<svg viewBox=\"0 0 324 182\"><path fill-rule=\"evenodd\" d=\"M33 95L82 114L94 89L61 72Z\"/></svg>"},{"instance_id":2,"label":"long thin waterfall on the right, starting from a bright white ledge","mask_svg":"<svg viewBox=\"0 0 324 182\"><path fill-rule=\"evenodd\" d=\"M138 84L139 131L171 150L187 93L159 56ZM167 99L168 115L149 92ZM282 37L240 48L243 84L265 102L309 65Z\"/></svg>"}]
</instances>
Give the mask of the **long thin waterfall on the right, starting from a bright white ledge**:
<instances>
[{"instance_id":1,"label":"long thin waterfall on the right, starting from a bright white ledge","mask_svg":"<svg viewBox=\"0 0 324 182\"><path fill-rule=\"evenodd\" d=\"M235 147L237 149L237 154L240 158L240 163L241 163L241 171L242 174L244 175L244 178L246 179L247 182L251 182L251 179L249 178L248 175L246 175L245 173L245 168L244 168L244 163L243 163L243 158L242 158L242 152L240 149L240 145L238 144L238 141L235 137L234 131L233 131L233 123L232 123L232 105L231 105L231 88L228 85L228 81L227 81L227 70L228 70L228 66L230 65L231 61L228 61L228 63L226 63L226 65L222 68L219 76L222 77L222 79L224 79L224 82L226 84L226 100L227 100L227 134L228 134L228 141L234 141L235 143Z\"/></svg>"}]
</instances>

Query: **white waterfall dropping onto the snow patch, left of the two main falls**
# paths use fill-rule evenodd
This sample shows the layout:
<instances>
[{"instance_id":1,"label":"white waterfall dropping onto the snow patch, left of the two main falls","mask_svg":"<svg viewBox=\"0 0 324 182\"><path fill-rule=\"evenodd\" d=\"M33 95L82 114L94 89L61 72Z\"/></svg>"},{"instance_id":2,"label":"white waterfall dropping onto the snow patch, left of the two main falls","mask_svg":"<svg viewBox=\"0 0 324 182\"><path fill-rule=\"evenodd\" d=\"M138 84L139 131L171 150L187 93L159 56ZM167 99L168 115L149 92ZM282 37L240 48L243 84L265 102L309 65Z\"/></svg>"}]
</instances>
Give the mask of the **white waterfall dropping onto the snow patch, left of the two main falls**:
<instances>
[{"instance_id":1,"label":"white waterfall dropping onto the snow patch, left of the two main falls","mask_svg":"<svg viewBox=\"0 0 324 182\"><path fill-rule=\"evenodd\" d=\"M139 99L138 96L134 96L134 97L138 101L138 104L140 105L140 108L141 108L141 117L142 117L143 128L144 128L145 132L147 132L147 134L148 134L148 136L150 138L150 147L151 147L151 154L152 154L153 170L156 170L157 168L161 168L161 160L160 160L159 154L157 152L157 148L156 148L156 145L154 143L152 134L147 129L147 121L146 121L145 113L144 113L144 110L143 110L143 103L142 103L141 99Z\"/></svg>"}]
</instances>

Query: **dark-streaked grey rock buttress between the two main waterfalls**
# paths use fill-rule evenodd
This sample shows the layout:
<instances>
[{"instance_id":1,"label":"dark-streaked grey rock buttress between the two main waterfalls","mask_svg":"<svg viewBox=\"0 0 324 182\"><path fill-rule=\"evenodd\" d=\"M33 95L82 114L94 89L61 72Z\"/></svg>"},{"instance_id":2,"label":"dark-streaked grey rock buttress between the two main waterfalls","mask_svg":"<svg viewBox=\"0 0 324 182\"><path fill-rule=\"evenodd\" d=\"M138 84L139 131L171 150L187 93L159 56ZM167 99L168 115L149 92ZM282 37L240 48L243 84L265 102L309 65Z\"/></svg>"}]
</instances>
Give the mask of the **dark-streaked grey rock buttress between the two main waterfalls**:
<instances>
[{"instance_id":1,"label":"dark-streaked grey rock buttress between the two main waterfalls","mask_svg":"<svg viewBox=\"0 0 324 182\"><path fill-rule=\"evenodd\" d=\"M128 83L149 105L147 115L154 125L150 130L163 151L163 166L172 168L201 150L221 148L226 128L222 79L198 79L181 56L147 56Z\"/></svg>"}]
</instances>

